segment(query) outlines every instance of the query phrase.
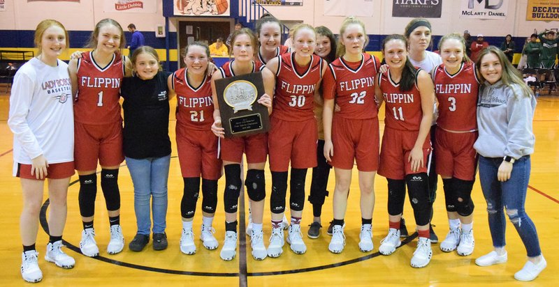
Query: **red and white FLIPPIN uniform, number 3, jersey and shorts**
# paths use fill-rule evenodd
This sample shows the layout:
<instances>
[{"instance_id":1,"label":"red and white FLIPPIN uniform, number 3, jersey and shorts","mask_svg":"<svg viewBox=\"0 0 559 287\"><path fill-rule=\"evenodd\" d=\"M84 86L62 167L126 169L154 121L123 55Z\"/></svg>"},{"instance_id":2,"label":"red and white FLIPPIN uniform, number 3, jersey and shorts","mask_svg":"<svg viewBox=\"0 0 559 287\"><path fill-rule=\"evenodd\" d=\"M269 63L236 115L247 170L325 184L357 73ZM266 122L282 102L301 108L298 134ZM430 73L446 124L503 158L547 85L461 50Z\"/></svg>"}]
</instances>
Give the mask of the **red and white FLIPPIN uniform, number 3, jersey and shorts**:
<instances>
[{"instance_id":1,"label":"red and white FLIPPIN uniform, number 3, jersey and shorts","mask_svg":"<svg viewBox=\"0 0 559 287\"><path fill-rule=\"evenodd\" d=\"M472 62L462 63L460 70L454 75L447 72L444 64L438 65L433 70L433 81L439 102L435 133L436 171L442 176L474 180L479 91L475 65Z\"/></svg>"}]
</instances>

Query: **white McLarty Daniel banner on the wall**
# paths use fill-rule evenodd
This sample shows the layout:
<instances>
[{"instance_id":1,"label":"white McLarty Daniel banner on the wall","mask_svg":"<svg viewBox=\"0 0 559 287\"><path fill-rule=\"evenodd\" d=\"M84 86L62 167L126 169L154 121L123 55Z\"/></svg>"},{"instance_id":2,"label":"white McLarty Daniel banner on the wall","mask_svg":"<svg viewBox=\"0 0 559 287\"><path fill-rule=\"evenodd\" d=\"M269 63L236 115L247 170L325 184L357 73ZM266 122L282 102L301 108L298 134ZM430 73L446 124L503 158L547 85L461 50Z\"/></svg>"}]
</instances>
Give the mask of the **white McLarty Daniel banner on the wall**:
<instances>
[{"instance_id":1,"label":"white McLarty Daniel banner on the wall","mask_svg":"<svg viewBox=\"0 0 559 287\"><path fill-rule=\"evenodd\" d=\"M507 19L509 1L505 0L460 0L460 18Z\"/></svg>"}]
</instances>

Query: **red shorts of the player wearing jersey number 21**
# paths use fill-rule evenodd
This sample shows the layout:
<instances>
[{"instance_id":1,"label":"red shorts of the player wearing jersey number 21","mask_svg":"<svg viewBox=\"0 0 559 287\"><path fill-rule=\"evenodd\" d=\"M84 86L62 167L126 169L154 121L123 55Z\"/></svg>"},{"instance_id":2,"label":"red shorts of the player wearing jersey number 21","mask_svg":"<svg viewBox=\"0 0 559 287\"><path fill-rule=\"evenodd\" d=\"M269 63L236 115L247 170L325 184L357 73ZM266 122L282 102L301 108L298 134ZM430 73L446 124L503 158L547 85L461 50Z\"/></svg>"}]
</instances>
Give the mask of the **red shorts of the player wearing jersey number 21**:
<instances>
[{"instance_id":1,"label":"red shorts of the player wearing jersey number 21","mask_svg":"<svg viewBox=\"0 0 559 287\"><path fill-rule=\"evenodd\" d=\"M210 130L188 130L177 124L177 152L183 178L218 180L222 160L217 158L217 137Z\"/></svg>"}]
</instances>

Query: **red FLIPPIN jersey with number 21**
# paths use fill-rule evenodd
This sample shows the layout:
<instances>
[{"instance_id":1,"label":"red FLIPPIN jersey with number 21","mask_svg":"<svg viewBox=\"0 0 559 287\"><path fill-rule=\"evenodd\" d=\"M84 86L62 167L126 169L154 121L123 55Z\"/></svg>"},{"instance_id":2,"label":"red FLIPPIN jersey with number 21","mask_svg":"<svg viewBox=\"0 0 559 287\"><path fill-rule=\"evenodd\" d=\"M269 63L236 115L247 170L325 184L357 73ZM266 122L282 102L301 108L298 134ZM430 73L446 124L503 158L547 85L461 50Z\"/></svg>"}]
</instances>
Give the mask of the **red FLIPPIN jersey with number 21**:
<instances>
[{"instance_id":1,"label":"red FLIPPIN jersey with number 21","mask_svg":"<svg viewBox=\"0 0 559 287\"><path fill-rule=\"evenodd\" d=\"M173 89L177 93L177 125L189 130L210 130L214 121L212 77L205 75L200 86L188 82L187 68L173 73Z\"/></svg>"}]
</instances>

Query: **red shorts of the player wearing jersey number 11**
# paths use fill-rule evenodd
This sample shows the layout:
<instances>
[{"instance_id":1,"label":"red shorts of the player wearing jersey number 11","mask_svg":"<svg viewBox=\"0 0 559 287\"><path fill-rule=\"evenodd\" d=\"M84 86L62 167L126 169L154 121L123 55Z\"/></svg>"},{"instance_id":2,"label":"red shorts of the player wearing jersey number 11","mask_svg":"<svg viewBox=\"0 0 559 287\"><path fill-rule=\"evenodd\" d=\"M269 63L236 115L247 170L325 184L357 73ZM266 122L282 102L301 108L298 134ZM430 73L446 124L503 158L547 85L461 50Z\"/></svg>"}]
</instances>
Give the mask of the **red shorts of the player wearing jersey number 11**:
<instances>
[{"instance_id":1,"label":"red shorts of the player wearing jersey number 11","mask_svg":"<svg viewBox=\"0 0 559 287\"><path fill-rule=\"evenodd\" d=\"M379 175L385 178L402 180L408 174L426 173L431 161L431 141L428 134L423 141L423 167L412 171L412 162L408 162L409 153L414 148L418 131L394 130L384 127L382 147L380 149Z\"/></svg>"}]
</instances>

